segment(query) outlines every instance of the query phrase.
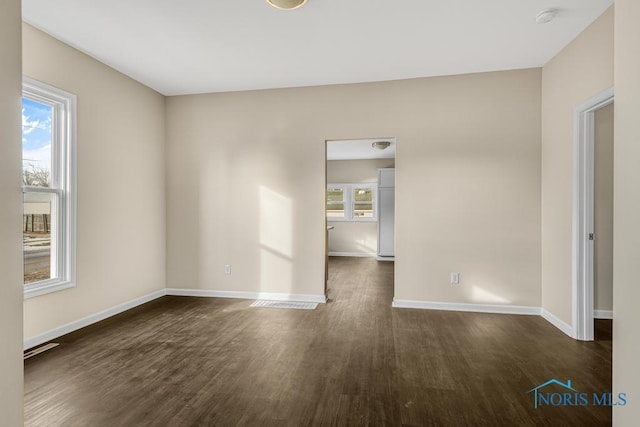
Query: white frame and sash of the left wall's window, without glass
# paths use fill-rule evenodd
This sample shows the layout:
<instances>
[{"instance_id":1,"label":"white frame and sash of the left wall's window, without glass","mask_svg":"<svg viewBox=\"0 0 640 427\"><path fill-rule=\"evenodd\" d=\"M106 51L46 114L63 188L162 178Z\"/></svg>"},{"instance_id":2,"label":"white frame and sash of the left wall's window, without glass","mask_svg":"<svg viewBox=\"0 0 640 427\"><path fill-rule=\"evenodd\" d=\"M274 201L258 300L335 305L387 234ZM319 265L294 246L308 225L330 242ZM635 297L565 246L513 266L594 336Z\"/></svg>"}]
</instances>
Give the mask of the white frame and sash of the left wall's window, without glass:
<instances>
[{"instance_id":1,"label":"white frame and sash of the left wall's window, without glass","mask_svg":"<svg viewBox=\"0 0 640 427\"><path fill-rule=\"evenodd\" d=\"M22 96L51 106L51 187L23 186L23 194L53 194L51 265L55 278L24 285L24 298L68 289L76 282L76 96L24 77ZM53 215L52 215L53 220Z\"/></svg>"}]
</instances>

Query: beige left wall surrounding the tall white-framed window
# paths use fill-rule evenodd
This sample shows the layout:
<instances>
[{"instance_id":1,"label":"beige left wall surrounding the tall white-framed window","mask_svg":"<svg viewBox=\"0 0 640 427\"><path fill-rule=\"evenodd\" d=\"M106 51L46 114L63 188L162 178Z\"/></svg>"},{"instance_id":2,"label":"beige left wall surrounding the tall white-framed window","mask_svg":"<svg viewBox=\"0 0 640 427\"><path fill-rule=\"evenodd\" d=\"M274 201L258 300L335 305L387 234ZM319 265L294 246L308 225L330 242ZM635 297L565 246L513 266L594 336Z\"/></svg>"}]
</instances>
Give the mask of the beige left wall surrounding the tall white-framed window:
<instances>
[{"instance_id":1,"label":"beige left wall surrounding the tall white-framed window","mask_svg":"<svg viewBox=\"0 0 640 427\"><path fill-rule=\"evenodd\" d=\"M77 286L25 301L29 338L164 288L164 97L23 28L24 74L78 98Z\"/></svg>"}]
</instances>

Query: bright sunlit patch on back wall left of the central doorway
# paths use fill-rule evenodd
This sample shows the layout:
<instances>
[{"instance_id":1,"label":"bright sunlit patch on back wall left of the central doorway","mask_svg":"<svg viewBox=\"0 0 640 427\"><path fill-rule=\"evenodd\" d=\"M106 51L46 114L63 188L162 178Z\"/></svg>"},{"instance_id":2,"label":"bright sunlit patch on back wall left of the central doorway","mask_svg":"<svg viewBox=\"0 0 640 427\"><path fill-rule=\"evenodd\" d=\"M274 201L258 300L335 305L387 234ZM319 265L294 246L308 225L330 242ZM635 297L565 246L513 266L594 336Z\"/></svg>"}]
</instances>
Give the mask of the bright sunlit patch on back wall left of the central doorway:
<instances>
[{"instance_id":1,"label":"bright sunlit patch on back wall left of the central doorway","mask_svg":"<svg viewBox=\"0 0 640 427\"><path fill-rule=\"evenodd\" d=\"M293 202L260 186L260 291L293 289Z\"/></svg>"}]
</instances>

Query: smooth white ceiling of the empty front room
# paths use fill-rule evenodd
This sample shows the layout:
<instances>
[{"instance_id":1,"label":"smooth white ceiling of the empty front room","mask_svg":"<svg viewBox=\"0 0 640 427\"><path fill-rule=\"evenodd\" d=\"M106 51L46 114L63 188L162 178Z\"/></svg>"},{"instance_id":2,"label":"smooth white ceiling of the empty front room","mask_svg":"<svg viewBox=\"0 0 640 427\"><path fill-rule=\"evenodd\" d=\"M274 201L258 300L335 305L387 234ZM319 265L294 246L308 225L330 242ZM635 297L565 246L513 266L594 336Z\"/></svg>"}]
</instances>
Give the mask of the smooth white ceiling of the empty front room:
<instances>
[{"instance_id":1,"label":"smooth white ceiling of the empty front room","mask_svg":"<svg viewBox=\"0 0 640 427\"><path fill-rule=\"evenodd\" d=\"M26 22L165 95L544 65L613 0L23 0ZM544 8L557 18L535 23Z\"/></svg>"}]
</instances>

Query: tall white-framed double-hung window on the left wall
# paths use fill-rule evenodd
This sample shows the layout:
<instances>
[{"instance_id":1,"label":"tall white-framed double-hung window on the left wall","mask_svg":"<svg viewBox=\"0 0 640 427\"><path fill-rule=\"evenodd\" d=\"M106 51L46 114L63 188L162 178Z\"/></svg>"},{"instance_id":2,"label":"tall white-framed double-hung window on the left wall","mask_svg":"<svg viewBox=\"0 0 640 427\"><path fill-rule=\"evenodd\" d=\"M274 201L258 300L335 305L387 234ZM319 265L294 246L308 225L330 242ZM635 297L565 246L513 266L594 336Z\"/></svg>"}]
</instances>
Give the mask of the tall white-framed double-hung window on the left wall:
<instances>
[{"instance_id":1,"label":"tall white-framed double-hung window on the left wall","mask_svg":"<svg viewBox=\"0 0 640 427\"><path fill-rule=\"evenodd\" d=\"M74 286L75 102L75 95L23 81L25 298Z\"/></svg>"}]
</instances>

